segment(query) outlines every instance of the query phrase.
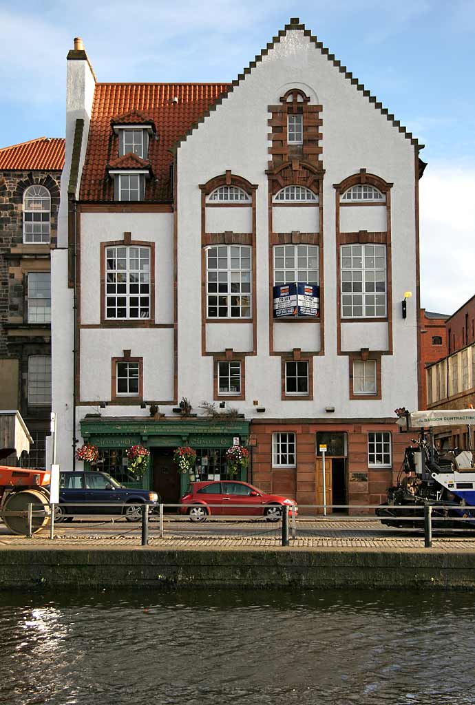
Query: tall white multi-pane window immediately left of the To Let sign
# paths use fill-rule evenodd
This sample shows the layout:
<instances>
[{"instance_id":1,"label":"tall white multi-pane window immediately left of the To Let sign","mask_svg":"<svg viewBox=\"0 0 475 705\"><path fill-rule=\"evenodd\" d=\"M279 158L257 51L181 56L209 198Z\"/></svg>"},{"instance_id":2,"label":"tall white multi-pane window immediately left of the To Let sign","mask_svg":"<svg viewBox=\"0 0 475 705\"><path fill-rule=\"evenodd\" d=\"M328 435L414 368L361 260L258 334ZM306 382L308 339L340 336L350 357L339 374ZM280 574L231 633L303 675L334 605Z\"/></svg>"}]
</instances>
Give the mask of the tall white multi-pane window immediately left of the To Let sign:
<instances>
[{"instance_id":1,"label":"tall white multi-pane window immediately left of the To Let sign","mask_svg":"<svg viewBox=\"0 0 475 705\"><path fill-rule=\"evenodd\" d=\"M248 266L246 262L249 262ZM210 313L211 309L216 309L216 315ZM240 313L238 316L237 310ZM243 315L245 310L247 313ZM206 247L206 318L252 319L250 245Z\"/></svg>"}]
</instances>

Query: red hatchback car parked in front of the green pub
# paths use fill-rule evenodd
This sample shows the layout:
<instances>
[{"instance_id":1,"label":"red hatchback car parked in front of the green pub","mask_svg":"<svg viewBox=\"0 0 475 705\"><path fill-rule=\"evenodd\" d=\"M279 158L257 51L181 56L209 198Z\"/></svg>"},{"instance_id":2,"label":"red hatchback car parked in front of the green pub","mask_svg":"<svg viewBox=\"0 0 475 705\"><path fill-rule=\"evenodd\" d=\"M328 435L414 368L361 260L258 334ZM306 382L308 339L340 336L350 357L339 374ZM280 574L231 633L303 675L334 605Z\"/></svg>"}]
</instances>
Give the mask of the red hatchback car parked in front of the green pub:
<instances>
[{"instance_id":1,"label":"red hatchback car parked in front of the green pub","mask_svg":"<svg viewBox=\"0 0 475 705\"><path fill-rule=\"evenodd\" d=\"M253 517L264 515L269 522L276 522L280 519L285 505L290 508L290 516L293 512L297 516L297 502L294 499L278 494L266 494L247 482L237 482L237 480L192 482L187 493L180 498L180 503L193 505L180 507L180 514L189 515L192 522L204 522L211 514ZM230 506L219 506L227 504ZM253 506L246 506L249 504Z\"/></svg>"}]
</instances>

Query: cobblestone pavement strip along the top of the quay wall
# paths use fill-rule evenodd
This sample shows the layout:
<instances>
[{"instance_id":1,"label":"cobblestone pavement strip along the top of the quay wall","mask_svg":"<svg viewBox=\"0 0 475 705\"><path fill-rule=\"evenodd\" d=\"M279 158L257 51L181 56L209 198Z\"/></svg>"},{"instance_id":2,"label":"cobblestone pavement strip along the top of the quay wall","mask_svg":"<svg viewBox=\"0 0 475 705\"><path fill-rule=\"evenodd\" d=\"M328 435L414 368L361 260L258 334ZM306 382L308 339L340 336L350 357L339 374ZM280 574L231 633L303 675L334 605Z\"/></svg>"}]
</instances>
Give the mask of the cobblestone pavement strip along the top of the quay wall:
<instances>
[{"instance_id":1,"label":"cobblestone pavement strip along the top of the quay wall","mask_svg":"<svg viewBox=\"0 0 475 705\"><path fill-rule=\"evenodd\" d=\"M159 526L151 522L149 546L154 548L279 548L281 527L268 522L190 522L166 520L164 537ZM140 546L141 527L126 522L77 522L55 527L54 541L49 539L49 528L31 539L10 536L0 528L0 548L38 546ZM434 531L433 549L438 551L474 551L475 532ZM424 548L424 534L419 529L393 529L371 520L297 520L295 538L290 532L290 548L373 548L378 550L414 550Z\"/></svg>"}]
</instances>

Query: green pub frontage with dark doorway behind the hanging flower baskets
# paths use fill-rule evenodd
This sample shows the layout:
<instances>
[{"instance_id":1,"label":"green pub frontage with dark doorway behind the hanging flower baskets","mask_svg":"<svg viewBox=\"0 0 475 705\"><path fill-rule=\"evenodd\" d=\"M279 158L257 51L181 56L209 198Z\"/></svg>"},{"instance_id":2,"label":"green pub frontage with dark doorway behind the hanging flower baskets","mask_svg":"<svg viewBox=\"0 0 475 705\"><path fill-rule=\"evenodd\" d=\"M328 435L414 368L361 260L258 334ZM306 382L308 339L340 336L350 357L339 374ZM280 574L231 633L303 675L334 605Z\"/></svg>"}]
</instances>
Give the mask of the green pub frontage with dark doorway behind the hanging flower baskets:
<instances>
[{"instance_id":1,"label":"green pub frontage with dark doorway behind the hanging flower baskets","mask_svg":"<svg viewBox=\"0 0 475 705\"><path fill-rule=\"evenodd\" d=\"M85 443L99 450L97 470L109 472L130 487L153 489L164 503L176 503L190 482L200 480L247 480L249 467L231 475L226 451L237 443L247 446L249 422L244 419L147 419L144 417L100 417L86 415L81 421ZM144 446L150 455L142 477L130 472L126 451ZM189 446L196 452L195 467L179 472L173 460L176 448Z\"/></svg>"}]
</instances>

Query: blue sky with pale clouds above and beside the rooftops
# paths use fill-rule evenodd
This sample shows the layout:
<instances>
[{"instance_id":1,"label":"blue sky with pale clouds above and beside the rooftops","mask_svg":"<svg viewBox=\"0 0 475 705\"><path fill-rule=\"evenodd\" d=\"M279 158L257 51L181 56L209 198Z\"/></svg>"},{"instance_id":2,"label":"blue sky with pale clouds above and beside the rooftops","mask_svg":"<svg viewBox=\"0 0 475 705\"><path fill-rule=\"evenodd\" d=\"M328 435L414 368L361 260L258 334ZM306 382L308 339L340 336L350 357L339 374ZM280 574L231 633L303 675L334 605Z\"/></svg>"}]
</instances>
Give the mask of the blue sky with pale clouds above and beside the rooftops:
<instances>
[{"instance_id":1,"label":"blue sky with pale clouds above and beside the rooftops","mask_svg":"<svg viewBox=\"0 0 475 705\"><path fill-rule=\"evenodd\" d=\"M426 145L421 305L475 293L475 0L0 0L0 147L64 135L66 54L99 81L233 80L300 17Z\"/></svg>"}]
</instances>

